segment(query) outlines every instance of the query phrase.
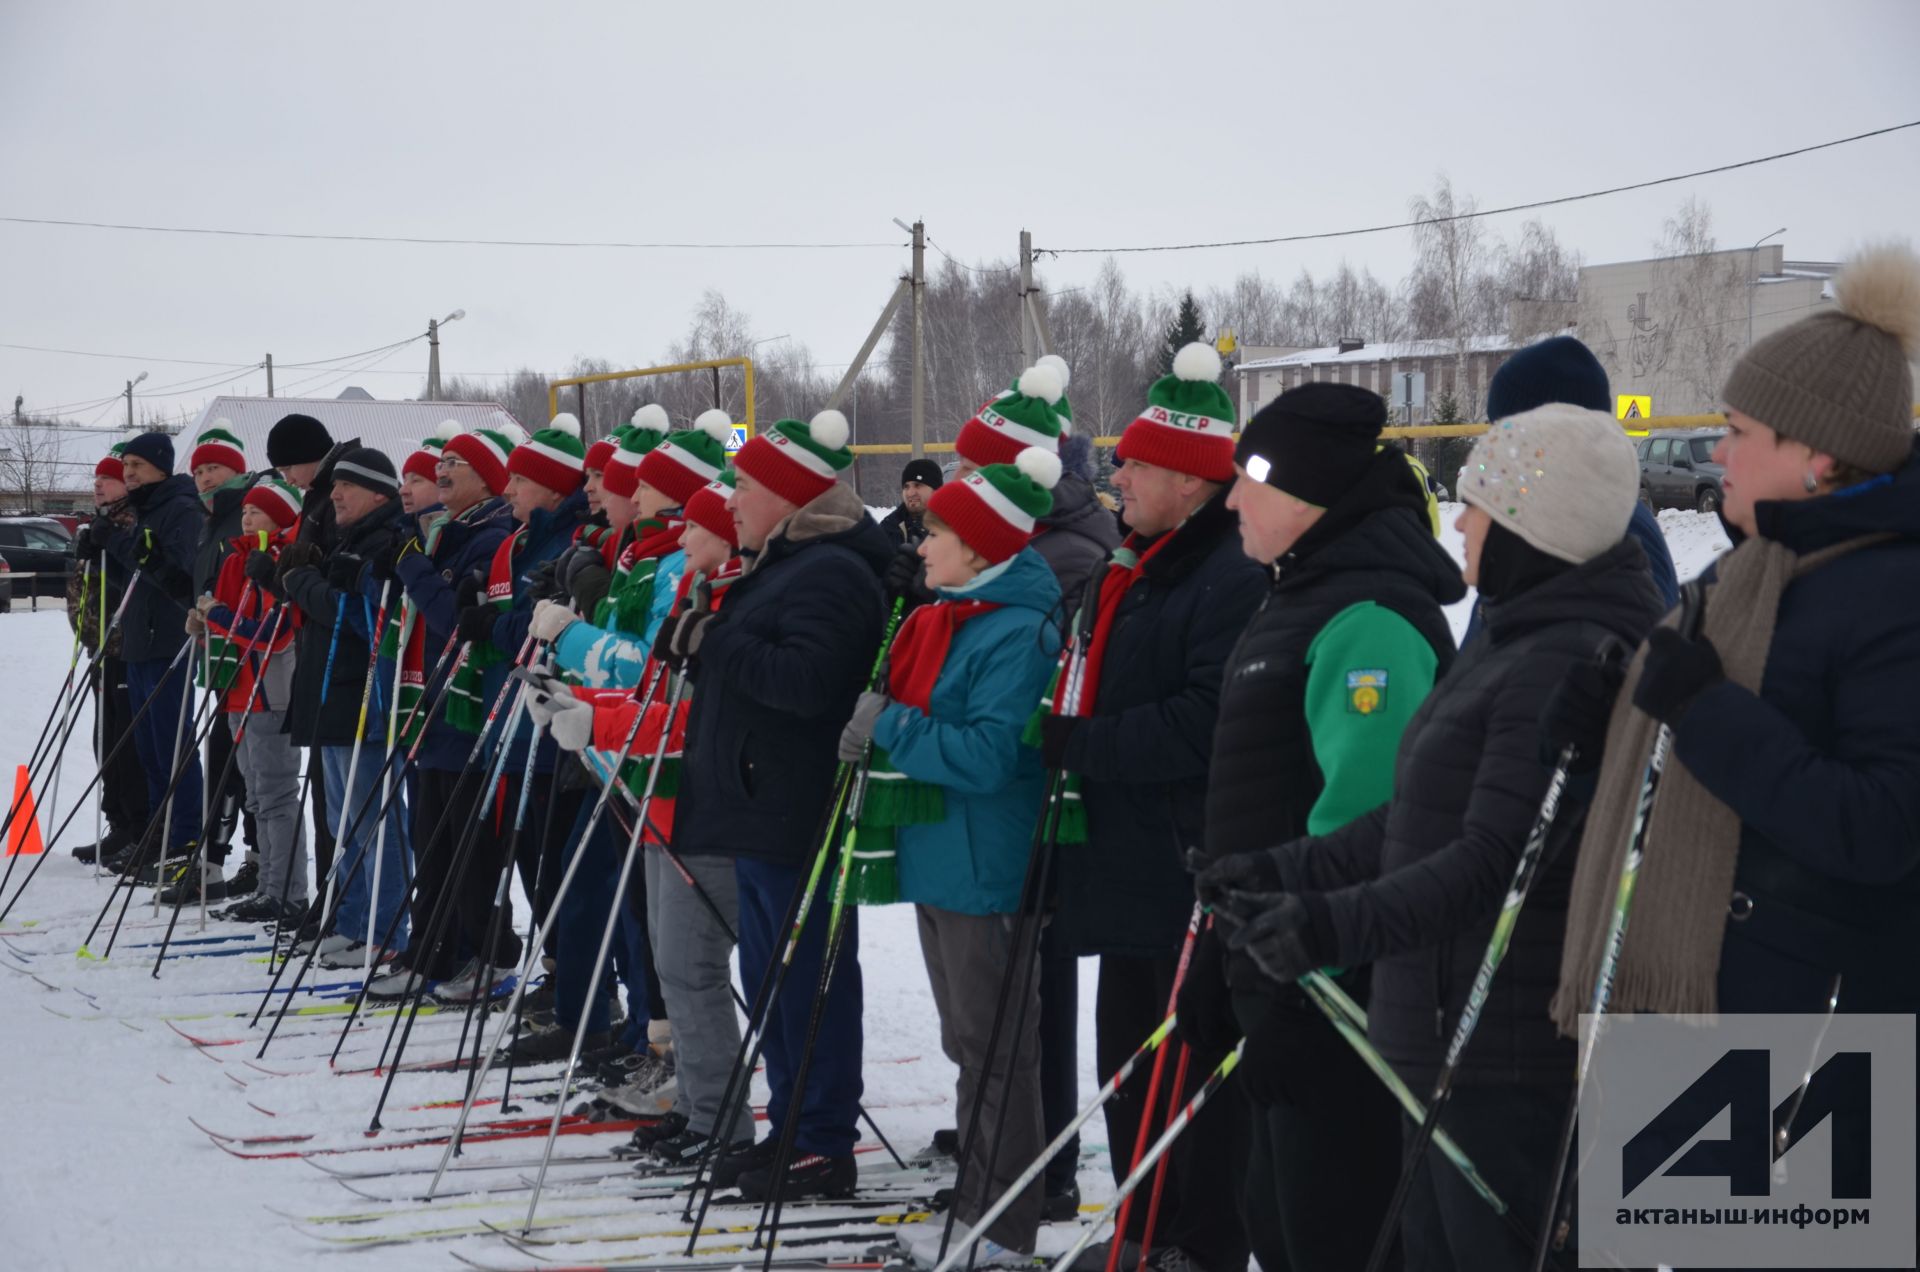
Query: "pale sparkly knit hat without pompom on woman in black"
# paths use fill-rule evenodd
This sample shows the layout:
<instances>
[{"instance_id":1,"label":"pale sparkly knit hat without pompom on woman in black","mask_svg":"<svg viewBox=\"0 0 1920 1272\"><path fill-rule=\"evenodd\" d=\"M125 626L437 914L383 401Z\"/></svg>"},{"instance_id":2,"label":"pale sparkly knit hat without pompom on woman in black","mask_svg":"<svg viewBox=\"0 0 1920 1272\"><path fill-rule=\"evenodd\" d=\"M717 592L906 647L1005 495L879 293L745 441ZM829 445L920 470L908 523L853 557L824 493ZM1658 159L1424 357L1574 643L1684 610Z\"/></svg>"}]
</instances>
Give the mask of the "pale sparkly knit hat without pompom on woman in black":
<instances>
[{"instance_id":1,"label":"pale sparkly knit hat without pompom on woman in black","mask_svg":"<svg viewBox=\"0 0 1920 1272\"><path fill-rule=\"evenodd\" d=\"M1459 498L1580 565L1626 536L1640 459L1605 411L1549 402L1488 427L1461 465Z\"/></svg>"}]
</instances>

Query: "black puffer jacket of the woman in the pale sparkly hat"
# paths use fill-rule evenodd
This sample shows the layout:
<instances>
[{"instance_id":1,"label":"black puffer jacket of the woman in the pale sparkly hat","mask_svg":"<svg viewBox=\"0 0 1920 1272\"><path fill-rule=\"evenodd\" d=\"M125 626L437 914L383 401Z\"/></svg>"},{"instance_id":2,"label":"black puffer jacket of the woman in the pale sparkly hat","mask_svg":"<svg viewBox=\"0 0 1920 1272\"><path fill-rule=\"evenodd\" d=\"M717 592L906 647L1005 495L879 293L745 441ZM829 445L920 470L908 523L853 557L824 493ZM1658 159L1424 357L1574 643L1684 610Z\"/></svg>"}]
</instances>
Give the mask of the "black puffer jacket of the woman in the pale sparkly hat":
<instances>
[{"instance_id":1,"label":"black puffer jacket of the woman in the pale sparkly hat","mask_svg":"<svg viewBox=\"0 0 1920 1272\"><path fill-rule=\"evenodd\" d=\"M1288 892L1315 915L1315 955L1373 965L1369 1036L1404 1078L1434 1078L1494 930L1513 865L1546 794L1540 711L1567 669L1605 640L1634 646L1661 598L1634 540L1488 603L1471 640L1407 724L1394 799L1346 828L1281 851ZM1567 890L1582 809L1561 805L1463 1084L1565 1086L1572 1043L1548 999L1559 980Z\"/></svg>"}]
</instances>

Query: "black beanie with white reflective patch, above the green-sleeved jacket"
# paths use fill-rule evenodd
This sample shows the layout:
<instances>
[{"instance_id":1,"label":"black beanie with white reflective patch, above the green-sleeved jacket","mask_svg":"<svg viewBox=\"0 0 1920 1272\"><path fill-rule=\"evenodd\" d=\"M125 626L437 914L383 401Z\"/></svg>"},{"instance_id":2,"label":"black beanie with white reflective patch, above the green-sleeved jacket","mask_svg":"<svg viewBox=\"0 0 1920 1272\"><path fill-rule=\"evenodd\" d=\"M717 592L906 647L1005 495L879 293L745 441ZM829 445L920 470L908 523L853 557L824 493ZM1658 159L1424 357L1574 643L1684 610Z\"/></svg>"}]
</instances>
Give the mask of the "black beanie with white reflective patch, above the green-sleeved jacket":
<instances>
[{"instance_id":1,"label":"black beanie with white reflective patch, above the green-sleeved jacket","mask_svg":"<svg viewBox=\"0 0 1920 1272\"><path fill-rule=\"evenodd\" d=\"M1386 398L1357 384L1300 384L1246 421L1233 461L1315 507L1332 507L1373 463Z\"/></svg>"}]
</instances>

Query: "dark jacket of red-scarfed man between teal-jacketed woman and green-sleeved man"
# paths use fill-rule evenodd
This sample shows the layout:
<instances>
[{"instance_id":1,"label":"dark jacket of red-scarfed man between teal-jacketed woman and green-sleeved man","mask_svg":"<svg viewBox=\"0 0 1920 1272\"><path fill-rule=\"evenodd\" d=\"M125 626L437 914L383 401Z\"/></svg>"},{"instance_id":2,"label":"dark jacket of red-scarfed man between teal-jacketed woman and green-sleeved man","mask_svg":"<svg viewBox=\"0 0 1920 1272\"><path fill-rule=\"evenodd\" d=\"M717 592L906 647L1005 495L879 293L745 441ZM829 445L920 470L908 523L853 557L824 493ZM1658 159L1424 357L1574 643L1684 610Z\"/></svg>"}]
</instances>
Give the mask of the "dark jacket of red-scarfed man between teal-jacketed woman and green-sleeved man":
<instances>
[{"instance_id":1,"label":"dark jacket of red-scarfed man between teal-jacketed woman and green-sleeved man","mask_svg":"<svg viewBox=\"0 0 1920 1272\"><path fill-rule=\"evenodd\" d=\"M1077 955L1164 957L1192 913L1187 849L1206 842L1221 669L1267 592L1221 490L1127 592L1094 713L1073 730L1087 844L1062 844L1054 936Z\"/></svg>"}]
</instances>

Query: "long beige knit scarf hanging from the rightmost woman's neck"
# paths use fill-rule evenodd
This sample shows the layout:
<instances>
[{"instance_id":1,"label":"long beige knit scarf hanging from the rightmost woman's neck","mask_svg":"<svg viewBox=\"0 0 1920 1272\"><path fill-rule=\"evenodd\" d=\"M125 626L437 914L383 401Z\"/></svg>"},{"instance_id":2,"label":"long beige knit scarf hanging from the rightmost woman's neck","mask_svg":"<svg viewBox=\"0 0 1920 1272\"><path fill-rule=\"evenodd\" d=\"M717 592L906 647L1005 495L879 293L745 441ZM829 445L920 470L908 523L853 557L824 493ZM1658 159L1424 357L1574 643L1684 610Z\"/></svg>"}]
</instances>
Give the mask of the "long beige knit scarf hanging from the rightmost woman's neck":
<instances>
[{"instance_id":1,"label":"long beige knit scarf hanging from the rightmost woman's neck","mask_svg":"<svg viewBox=\"0 0 1920 1272\"><path fill-rule=\"evenodd\" d=\"M1807 555L1764 538L1749 538L1720 557L1716 580L1707 586L1701 636L1720 653L1726 678L1759 692L1788 584L1836 557L1887 538L1891 536L1868 534ZM1663 626L1676 623L1678 611L1661 621ZM1567 943L1551 1005L1553 1022L1569 1038L1576 1036L1580 1013L1588 1011L1594 997L1620 863L1626 861L1634 809L1640 803L1640 780L1659 734L1659 721L1634 707L1634 686L1640 684L1644 661L1645 646L1626 669L1620 696L1613 703L1607 757L1574 861ZM1668 751L1645 842L1607 1011L1711 1015L1718 1003L1715 984L1740 857L1740 817Z\"/></svg>"}]
</instances>

